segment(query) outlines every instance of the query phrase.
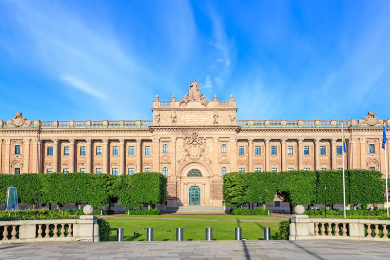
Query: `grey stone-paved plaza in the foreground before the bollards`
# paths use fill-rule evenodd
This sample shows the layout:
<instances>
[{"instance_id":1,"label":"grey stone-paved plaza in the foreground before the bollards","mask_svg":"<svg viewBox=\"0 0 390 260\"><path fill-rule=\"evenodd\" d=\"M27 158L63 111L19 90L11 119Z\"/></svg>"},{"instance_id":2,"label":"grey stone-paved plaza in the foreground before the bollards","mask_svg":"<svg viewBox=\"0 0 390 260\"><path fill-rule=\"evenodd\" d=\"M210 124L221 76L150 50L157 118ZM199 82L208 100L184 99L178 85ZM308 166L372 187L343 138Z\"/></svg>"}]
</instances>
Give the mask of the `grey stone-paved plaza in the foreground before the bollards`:
<instances>
[{"instance_id":1,"label":"grey stone-paved plaza in the foreground before the bollards","mask_svg":"<svg viewBox=\"0 0 390 260\"><path fill-rule=\"evenodd\" d=\"M0 259L388 259L390 243L355 240L41 242L0 245Z\"/></svg>"}]
</instances>

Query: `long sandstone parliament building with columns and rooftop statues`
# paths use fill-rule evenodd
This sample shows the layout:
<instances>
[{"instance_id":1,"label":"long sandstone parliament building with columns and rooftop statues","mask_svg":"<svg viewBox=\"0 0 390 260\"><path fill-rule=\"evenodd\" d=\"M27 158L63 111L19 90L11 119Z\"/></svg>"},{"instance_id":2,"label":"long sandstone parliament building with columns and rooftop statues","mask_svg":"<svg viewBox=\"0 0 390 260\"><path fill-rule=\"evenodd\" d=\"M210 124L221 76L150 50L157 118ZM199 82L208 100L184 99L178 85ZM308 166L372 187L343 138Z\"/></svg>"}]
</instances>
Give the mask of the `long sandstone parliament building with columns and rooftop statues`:
<instances>
[{"instance_id":1,"label":"long sandstone parliament building with columns and rooftop statues","mask_svg":"<svg viewBox=\"0 0 390 260\"><path fill-rule=\"evenodd\" d=\"M388 119L373 111L350 120L237 120L237 109L233 95L207 100L194 80L180 100L156 95L150 121L39 121L17 112L0 121L0 173L161 172L168 206L222 206L229 172L341 169L343 124L346 168L385 176Z\"/></svg>"}]
</instances>

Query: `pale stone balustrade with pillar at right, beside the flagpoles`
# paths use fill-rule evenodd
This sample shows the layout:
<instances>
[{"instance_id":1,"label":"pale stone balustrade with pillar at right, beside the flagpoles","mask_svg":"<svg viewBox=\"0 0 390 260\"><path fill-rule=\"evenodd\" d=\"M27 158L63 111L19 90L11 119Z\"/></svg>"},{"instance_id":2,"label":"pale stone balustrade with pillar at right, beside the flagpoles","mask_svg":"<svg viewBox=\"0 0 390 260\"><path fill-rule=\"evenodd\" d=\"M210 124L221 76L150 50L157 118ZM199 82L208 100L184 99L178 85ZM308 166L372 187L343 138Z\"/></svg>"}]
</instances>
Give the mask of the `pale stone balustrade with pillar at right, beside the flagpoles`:
<instances>
[{"instance_id":1,"label":"pale stone balustrade with pillar at right, beside the flagpoles","mask_svg":"<svg viewBox=\"0 0 390 260\"><path fill-rule=\"evenodd\" d=\"M289 240L355 239L390 241L390 220L321 219L292 215ZM367 232L365 231L367 229Z\"/></svg>"}]
</instances>

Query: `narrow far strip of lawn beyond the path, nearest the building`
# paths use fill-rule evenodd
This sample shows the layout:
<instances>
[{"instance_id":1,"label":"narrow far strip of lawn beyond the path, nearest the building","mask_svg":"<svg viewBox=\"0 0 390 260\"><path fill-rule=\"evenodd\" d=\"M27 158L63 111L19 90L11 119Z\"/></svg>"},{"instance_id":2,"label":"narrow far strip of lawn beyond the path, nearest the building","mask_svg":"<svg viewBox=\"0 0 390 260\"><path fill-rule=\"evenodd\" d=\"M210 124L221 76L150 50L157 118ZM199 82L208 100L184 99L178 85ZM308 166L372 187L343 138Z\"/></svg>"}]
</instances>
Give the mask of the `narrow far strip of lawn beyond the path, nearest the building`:
<instances>
[{"instance_id":1,"label":"narrow far strip of lawn beyond the path, nearest the building","mask_svg":"<svg viewBox=\"0 0 390 260\"><path fill-rule=\"evenodd\" d=\"M283 220L272 216L239 216L239 215L121 215L119 218L180 218L180 219L249 219L249 220Z\"/></svg>"}]
</instances>

